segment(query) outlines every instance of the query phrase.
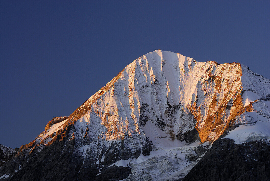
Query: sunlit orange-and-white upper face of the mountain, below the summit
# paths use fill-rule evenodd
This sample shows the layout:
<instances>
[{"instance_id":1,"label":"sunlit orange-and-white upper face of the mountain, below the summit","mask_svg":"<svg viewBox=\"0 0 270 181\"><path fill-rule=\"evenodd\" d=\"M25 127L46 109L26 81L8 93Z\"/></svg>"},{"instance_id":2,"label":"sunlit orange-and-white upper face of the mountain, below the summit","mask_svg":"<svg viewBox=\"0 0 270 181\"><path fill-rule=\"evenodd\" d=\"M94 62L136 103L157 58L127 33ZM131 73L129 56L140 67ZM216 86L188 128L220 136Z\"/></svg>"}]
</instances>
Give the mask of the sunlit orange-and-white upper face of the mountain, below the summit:
<instances>
[{"instance_id":1,"label":"sunlit orange-and-white upper face of the mountain, below the summit","mask_svg":"<svg viewBox=\"0 0 270 181\"><path fill-rule=\"evenodd\" d=\"M150 120L172 140L196 125L202 142L213 141L234 122L241 124L240 115L256 112L254 101L270 98L269 80L262 79L240 63L200 63L157 50L128 65L69 119L86 111L88 122L98 116L106 140L140 135L139 125ZM257 90L260 82L264 87Z\"/></svg>"}]
</instances>

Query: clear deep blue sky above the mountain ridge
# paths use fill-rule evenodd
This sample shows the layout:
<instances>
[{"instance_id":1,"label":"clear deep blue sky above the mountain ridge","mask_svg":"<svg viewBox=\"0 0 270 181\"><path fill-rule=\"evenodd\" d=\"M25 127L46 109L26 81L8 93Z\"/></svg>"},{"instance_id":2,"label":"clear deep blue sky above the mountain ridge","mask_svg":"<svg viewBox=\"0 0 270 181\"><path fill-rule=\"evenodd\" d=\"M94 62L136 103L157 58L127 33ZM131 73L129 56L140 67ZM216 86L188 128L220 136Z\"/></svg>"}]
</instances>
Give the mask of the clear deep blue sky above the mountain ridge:
<instances>
[{"instance_id":1,"label":"clear deep blue sky above the mountain ridge","mask_svg":"<svg viewBox=\"0 0 270 181\"><path fill-rule=\"evenodd\" d=\"M0 1L0 143L31 142L157 49L270 78L270 1Z\"/></svg>"}]
</instances>

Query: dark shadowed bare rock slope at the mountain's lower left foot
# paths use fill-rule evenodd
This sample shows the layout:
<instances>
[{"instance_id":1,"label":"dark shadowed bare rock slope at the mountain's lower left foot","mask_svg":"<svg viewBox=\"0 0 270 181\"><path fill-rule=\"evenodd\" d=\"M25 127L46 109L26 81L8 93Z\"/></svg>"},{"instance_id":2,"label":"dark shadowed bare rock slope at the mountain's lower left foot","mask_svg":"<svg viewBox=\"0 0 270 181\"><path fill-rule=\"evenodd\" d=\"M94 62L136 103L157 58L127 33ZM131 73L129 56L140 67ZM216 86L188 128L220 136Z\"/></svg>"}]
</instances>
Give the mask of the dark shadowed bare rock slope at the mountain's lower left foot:
<instances>
[{"instance_id":1,"label":"dark shadowed bare rock slope at the mountain's lower left foot","mask_svg":"<svg viewBox=\"0 0 270 181\"><path fill-rule=\"evenodd\" d=\"M67 132L73 126L68 126ZM46 146L40 152L33 151L25 159L16 155L12 162L2 168L2 172L13 175L8 180L121 180L130 174L129 167L109 166L100 169L93 160L84 160L82 154L78 154L74 136L67 136L61 140L59 136L55 142ZM112 150L115 151L115 150ZM119 152L119 151L118 151ZM113 152L108 151L105 156L107 162L114 162ZM20 160L21 159L21 160ZM13 167L20 161L18 172L14 174ZM87 162L87 163L85 163ZM110 165L110 164L107 164Z\"/></svg>"}]
</instances>

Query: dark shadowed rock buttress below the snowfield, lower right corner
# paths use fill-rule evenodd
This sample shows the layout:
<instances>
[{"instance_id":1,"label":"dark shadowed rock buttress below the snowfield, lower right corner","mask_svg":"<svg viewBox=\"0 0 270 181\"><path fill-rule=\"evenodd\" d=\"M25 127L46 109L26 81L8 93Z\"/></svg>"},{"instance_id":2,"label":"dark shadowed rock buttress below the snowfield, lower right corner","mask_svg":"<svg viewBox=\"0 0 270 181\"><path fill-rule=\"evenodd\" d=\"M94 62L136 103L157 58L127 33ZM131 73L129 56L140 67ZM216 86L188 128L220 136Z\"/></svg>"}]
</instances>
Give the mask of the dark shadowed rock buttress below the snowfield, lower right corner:
<instances>
[{"instance_id":1,"label":"dark shadowed rock buttress below the snowfield, lower right corner","mask_svg":"<svg viewBox=\"0 0 270 181\"><path fill-rule=\"evenodd\" d=\"M204 157L181 181L270 180L270 142L255 140L235 144L216 140Z\"/></svg>"}]
</instances>

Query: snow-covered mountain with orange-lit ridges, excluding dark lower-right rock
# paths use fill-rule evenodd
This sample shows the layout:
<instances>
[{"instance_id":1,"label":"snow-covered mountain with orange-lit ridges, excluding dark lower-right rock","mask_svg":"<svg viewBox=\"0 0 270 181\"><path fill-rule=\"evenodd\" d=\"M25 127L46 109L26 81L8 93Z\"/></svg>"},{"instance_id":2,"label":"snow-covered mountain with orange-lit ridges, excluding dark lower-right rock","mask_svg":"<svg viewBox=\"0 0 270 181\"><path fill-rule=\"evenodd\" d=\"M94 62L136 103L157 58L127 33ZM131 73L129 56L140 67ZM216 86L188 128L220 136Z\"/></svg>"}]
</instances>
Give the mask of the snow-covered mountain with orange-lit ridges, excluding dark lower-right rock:
<instances>
[{"instance_id":1,"label":"snow-covered mountain with orange-lit ridges, excluding dark lower-right rock","mask_svg":"<svg viewBox=\"0 0 270 181\"><path fill-rule=\"evenodd\" d=\"M269 79L240 63L201 63L157 50L130 63L69 117L53 118L3 166L0 179L185 179L217 145L270 150L269 119Z\"/></svg>"}]
</instances>

